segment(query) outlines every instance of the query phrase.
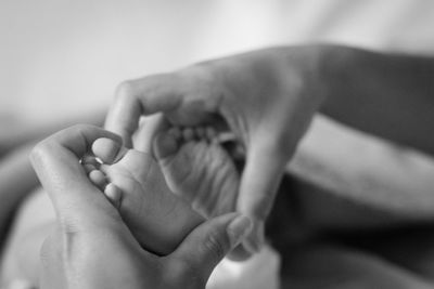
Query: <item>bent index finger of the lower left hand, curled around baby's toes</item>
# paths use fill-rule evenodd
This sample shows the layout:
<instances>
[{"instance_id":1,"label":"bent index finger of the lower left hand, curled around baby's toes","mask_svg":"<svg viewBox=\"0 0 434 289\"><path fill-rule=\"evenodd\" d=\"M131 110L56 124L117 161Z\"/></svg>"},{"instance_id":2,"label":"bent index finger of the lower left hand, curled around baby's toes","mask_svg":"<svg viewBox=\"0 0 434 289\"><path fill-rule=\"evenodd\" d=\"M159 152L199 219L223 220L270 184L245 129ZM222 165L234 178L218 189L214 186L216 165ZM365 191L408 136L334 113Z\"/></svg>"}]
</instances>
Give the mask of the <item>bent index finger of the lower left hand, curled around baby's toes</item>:
<instances>
[{"instance_id":1,"label":"bent index finger of the lower left hand, curled around baby's toes","mask_svg":"<svg viewBox=\"0 0 434 289\"><path fill-rule=\"evenodd\" d=\"M42 141L30 154L31 163L62 223L76 224L80 220L90 224L88 219L95 213L95 208L108 205L79 163L93 141L100 137L120 142L119 136L100 128L75 126Z\"/></svg>"}]
</instances>

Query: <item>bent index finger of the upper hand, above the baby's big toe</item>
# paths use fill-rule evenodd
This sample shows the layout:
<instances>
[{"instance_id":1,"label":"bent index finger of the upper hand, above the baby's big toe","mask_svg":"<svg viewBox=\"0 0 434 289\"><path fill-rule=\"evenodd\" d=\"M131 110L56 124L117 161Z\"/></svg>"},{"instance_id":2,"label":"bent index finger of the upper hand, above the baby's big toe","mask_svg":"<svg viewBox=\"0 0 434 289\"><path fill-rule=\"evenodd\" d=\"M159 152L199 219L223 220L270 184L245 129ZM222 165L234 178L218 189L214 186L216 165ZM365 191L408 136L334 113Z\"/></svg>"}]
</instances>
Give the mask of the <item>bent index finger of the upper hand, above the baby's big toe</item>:
<instances>
[{"instance_id":1,"label":"bent index finger of the upper hand, above the baby's big toe","mask_svg":"<svg viewBox=\"0 0 434 289\"><path fill-rule=\"evenodd\" d=\"M175 109L180 104L182 81L175 74L155 75L122 83L105 120L105 128L119 134L125 145L132 146L131 136L142 115Z\"/></svg>"}]
</instances>

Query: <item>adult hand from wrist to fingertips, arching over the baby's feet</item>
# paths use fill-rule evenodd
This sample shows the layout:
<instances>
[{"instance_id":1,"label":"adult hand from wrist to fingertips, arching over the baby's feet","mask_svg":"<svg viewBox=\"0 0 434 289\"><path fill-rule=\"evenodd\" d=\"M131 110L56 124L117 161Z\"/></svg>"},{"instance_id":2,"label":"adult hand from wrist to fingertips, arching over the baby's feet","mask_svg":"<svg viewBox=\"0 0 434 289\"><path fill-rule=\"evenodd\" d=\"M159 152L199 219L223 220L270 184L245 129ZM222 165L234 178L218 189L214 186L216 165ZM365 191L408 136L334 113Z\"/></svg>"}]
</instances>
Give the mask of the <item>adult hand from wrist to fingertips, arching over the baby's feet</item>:
<instances>
[{"instance_id":1,"label":"adult hand from wrist to fingertips, arching over the baby's feet","mask_svg":"<svg viewBox=\"0 0 434 289\"><path fill-rule=\"evenodd\" d=\"M322 101L319 55L315 47L270 49L127 81L106 128L131 144L140 117L158 111L175 126L229 127L246 152L237 208L255 222L243 244L255 252L284 166Z\"/></svg>"}]
</instances>

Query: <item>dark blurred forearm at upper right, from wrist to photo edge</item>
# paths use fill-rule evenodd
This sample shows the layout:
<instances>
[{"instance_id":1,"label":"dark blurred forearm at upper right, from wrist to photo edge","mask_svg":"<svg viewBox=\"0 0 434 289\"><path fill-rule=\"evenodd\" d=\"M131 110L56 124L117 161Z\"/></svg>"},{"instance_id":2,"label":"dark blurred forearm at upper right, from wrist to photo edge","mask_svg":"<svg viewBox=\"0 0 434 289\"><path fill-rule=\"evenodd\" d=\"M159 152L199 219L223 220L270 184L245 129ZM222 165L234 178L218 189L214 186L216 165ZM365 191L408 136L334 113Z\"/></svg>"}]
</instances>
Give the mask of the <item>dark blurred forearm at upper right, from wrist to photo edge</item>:
<instances>
[{"instance_id":1,"label":"dark blurred forearm at upper right, from wrist to photo edge","mask_svg":"<svg viewBox=\"0 0 434 289\"><path fill-rule=\"evenodd\" d=\"M324 47L321 111L434 155L434 58Z\"/></svg>"}]
</instances>

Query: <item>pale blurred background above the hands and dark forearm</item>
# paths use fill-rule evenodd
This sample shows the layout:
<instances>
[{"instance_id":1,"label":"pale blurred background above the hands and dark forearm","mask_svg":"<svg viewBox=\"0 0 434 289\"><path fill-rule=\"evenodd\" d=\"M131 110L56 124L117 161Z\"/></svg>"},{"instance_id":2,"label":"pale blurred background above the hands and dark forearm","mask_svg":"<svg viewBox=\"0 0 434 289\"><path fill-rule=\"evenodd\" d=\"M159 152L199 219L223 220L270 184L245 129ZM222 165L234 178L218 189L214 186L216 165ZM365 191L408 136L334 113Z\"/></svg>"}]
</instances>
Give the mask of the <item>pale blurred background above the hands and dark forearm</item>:
<instances>
[{"instance_id":1,"label":"pale blurred background above the hands and dark forearm","mask_svg":"<svg viewBox=\"0 0 434 289\"><path fill-rule=\"evenodd\" d=\"M269 45L430 53L433 25L430 0L1 0L0 116L93 111L125 79Z\"/></svg>"}]
</instances>

